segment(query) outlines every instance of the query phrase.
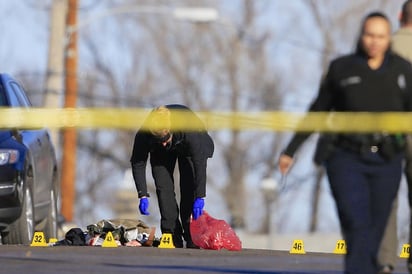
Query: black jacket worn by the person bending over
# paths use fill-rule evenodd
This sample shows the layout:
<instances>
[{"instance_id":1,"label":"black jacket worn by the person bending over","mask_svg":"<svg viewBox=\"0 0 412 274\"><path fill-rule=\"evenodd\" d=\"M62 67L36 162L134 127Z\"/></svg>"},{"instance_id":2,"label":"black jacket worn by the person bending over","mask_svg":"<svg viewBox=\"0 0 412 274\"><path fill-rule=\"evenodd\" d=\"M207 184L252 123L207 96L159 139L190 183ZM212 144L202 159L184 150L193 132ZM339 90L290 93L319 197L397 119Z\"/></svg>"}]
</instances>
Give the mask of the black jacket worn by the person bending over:
<instances>
[{"instance_id":1,"label":"black jacket worn by the person bending over","mask_svg":"<svg viewBox=\"0 0 412 274\"><path fill-rule=\"evenodd\" d=\"M189 108L183 105L166 105L172 110L171 125L173 128L173 110L187 111L190 123L203 122ZM204 127L204 125L202 126ZM164 153L176 153L178 157L188 157L193 163L195 181L195 197L206 196L207 159L213 156L214 144L206 129L202 131L171 131L173 133L171 147L164 148L154 136L144 130L136 133L131 157L133 178L139 197L147 196L146 163L150 152L162 150Z\"/></svg>"}]
</instances>

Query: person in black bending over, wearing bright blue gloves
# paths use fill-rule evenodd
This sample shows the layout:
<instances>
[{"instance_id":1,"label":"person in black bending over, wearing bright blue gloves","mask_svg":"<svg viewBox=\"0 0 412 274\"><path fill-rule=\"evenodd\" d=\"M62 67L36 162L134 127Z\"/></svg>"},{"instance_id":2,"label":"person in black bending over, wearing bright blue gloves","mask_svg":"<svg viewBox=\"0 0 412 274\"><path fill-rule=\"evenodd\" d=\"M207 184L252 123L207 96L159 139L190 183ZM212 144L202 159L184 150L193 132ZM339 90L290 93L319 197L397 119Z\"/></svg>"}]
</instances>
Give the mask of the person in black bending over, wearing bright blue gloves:
<instances>
[{"instance_id":1,"label":"person in black bending over, wearing bright blue gloves","mask_svg":"<svg viewBox=\"0 0 412 274\"><path fill-rule=\"evenodd\" d=\"M184 114L183 117L179 115L181 113ZM177 124L182 125L182 119L195 129L174 130ZM131 165L140 198L140 213L149 215L146 162L150 154L161 215L161 231L173 235L175 247L183 247L183 236L187 248L197 248L190 236L190 216L193 214L193 218L197 219L203 212L206 165L213 151L213 140L204 124L183 105L166 105L154 109L136 134ZM179 162L180 206L174 191L173 172L176 161Z\"/></svg>"}]
</instances>

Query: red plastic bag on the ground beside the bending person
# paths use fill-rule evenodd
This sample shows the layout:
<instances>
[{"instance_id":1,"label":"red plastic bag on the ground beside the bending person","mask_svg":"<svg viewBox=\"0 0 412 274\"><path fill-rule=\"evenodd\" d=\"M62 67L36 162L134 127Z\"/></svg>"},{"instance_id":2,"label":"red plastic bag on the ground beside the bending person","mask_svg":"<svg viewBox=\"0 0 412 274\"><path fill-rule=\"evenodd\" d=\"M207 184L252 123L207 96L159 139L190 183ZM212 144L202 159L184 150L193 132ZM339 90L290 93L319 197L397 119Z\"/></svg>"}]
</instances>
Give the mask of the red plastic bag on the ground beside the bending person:
<instances>
[{"instance_id":1,"label":"red plastic bag on the ground beside the bending person","mask_svg":"<svg viewBox=\"0 0 412 274\"><path fill-rule=\"evenodd\" d=\"M242 250L242 242L230 225L211 217L206 211L197 220L191 220L190 235L193 243L203 249Z\"/></svg>"}]
</instances>

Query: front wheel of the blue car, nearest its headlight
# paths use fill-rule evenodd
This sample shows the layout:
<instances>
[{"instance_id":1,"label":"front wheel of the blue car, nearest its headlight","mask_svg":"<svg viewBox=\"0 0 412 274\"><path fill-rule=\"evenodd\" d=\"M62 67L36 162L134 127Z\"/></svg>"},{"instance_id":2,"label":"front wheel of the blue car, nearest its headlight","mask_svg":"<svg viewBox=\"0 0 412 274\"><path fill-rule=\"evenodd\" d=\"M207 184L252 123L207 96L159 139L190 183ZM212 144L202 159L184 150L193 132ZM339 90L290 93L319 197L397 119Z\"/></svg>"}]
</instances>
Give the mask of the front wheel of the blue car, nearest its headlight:
<instances>
[{"instance_id":1,"label":"front wheel of the blue car, nearest its headlight","mask_svg":"<svg viewBox=\"0 0 412 274\"><path fill-rule=\"evenodd\" d=\"M27 183L27 182L26 182ZM4 244L30 244L34 233L34 206L31 184L25 185L23 207L20 217L2 233Z\"/></svg>"}]
</instances>

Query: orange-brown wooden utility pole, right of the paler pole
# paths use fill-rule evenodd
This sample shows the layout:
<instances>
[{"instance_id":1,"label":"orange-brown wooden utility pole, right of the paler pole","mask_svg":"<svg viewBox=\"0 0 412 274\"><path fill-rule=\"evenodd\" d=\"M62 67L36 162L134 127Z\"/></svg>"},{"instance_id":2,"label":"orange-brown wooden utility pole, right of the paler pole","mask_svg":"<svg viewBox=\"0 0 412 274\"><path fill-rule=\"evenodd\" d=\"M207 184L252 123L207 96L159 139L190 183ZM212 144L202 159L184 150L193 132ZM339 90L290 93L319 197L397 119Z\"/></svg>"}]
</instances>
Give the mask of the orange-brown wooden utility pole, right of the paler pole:
<instances>
[{"instance_id":1,"label":"orange-brown wooden utility pole, right of the paler pole","mask_svg":"<svg viewBox=\"0 0 412 274\"><path fill-rule=\"evenodd\" d=\"M75 108L77 101L77 9L78 0L68 0L66 28L69 35L65 56L65 108ZM63 134L63 161L61 178L61 213L66 221L73 221L76 183L77 132L66 128Z\"/></svg>"}]
</instances>

